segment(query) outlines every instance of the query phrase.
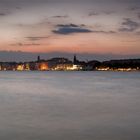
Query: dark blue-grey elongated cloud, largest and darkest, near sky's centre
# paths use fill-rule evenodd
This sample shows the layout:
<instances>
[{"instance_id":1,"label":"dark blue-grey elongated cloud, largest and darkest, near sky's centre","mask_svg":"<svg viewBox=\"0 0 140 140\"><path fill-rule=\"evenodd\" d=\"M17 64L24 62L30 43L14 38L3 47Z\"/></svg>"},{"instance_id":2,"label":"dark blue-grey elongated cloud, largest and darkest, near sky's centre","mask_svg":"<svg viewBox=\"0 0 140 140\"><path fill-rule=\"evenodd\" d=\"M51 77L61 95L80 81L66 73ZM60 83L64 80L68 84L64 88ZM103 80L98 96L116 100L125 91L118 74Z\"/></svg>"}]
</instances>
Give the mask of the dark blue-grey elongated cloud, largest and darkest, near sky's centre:
<instances>
[{"instance_id":1,"label":"dark blue-grey elongated cloud, largest and darkest, near sky's centre","mask_svg":"<svg viewBox=\"0 0 140 140\"><path fill-rule=\"evenodd\" d=\"M73 34L73 33L90 33L92 32L89 29L83 28L85 25L75 25L75 24L58 24L56 27L58 29L53 30L53 33L56 34L63 34L63 35L68 35L68 34Z\"/></svg>"}]
</instances>

